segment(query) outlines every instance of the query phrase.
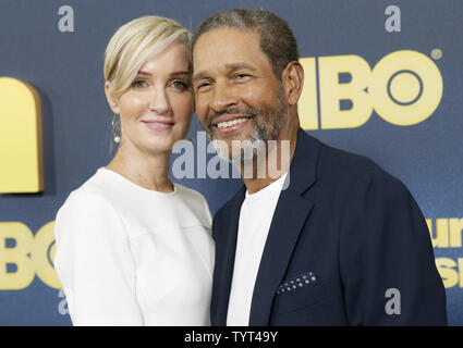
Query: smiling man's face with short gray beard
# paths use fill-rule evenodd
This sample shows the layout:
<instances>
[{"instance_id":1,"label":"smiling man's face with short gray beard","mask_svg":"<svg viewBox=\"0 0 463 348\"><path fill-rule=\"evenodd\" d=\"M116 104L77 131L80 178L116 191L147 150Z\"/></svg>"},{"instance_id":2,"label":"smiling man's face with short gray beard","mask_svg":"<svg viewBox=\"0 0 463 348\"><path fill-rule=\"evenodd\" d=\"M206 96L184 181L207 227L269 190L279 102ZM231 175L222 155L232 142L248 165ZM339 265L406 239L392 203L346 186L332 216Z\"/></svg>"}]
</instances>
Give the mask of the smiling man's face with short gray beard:
<instances>
[{"instance_id":1,"label":"smiling man's face with short gray beard","mask_svg":"<svg viewBox=\"0 0 463 348\"><path fill-rule=\"evenodd\" d=\"M196 113L211 139L230 150L232 140L277 139L287 103L258 34L229 27L203 34L193 63Z\"/></svg>"}]
</instances>

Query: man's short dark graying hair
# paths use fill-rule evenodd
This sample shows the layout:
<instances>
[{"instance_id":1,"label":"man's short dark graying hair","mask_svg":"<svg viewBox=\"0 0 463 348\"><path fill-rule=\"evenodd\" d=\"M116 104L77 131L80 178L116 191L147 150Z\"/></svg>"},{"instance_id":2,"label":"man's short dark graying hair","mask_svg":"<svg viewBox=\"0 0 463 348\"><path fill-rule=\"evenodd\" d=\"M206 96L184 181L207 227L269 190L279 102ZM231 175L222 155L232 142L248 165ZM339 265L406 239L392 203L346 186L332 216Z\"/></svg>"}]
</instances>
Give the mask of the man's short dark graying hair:
<instances>
[{"instance_id":1,"label":"man's short dark graying hair","mask_svg":"<svg viewBox=\"0 0 463 348\"><path fill-rule=\"evenodd\" d=\"M278 79L288 63L297 61L297 42L287 21L275 13L258 9L222 11L205 20L193 35L192 48L207 32L221 27L249 29L259 34L260 50L267 55Z\"/></svg>"}]
</instances>

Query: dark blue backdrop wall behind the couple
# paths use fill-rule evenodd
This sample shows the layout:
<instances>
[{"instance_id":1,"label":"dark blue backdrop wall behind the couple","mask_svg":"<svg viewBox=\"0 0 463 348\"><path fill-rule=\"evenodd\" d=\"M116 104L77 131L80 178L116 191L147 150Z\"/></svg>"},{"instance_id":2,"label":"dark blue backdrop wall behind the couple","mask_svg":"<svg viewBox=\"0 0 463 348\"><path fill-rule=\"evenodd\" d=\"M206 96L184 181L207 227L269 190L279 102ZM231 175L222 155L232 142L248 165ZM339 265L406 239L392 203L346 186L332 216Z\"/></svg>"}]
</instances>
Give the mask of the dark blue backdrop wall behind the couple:
<instances>
[{"instance_id":1,"label":"dark blue backdrop wall behind the couple","mask_svg":"<svg viewBox=\"0 0 463 348\"><path fill-rule=\"evenodd\" d=\"M392 4L401 11L401 30L389 33L385 23L390 15L385 11ZM62 5L73 10L74 32L59 29ZM459 0L2 0L0 76L27 82L39 94L46 189L38 195L0 195L0 223L21 222L34 235L40 228L52 228L47 224L70 191L109 162L112 114L103 94L102 60L117 27L157 14L194 30L217 11L239 7L264 8L285 18L302 58L355 54L373 69L391 52L413 50L437 65L443 94L437 110L423 122L399 126L374 112L358 127L317 127L308 133L328 145L369 157L405 183L432 231L436 261L447 288L449 323L463 325L463 2ZM317 76L307 74L306 79L310 78ZM321 113L318 119L324 116ZM199 129L195 120L188 137ZM181 182L203 192L212 213L241 185L240 179ZM17 243L12 239L0 240L0 252L14 249ZM41 250L34 251L34 279L17 289L0 287L0 325L71 324L65 299L48 272L52 241ZM1 254L0 261L0 284L7 275L26 272Z\"/></svg>"}]
</instances>

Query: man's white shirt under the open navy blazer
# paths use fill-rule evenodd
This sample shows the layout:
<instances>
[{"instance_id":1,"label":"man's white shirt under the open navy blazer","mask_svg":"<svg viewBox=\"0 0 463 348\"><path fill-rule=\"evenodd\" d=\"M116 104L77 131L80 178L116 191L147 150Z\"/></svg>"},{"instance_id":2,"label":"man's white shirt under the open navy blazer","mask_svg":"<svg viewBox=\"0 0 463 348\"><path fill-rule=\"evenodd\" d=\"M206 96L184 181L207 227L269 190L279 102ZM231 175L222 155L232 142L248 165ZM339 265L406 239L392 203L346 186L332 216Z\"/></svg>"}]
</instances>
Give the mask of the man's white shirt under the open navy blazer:
<instances>
[{"instance_id":1,"label":"man's white shirt under the open navy blazer","mask_svg":"<svg viewBox=\"0 0 463 348\"><path fill-rule=\"evenodd\" d=\"M228 326L249 324L254 285L287 174L255 194L251 195L246 190L246 198L240 211L233 279L227 314Z\"/></svg>"}]
</instances>

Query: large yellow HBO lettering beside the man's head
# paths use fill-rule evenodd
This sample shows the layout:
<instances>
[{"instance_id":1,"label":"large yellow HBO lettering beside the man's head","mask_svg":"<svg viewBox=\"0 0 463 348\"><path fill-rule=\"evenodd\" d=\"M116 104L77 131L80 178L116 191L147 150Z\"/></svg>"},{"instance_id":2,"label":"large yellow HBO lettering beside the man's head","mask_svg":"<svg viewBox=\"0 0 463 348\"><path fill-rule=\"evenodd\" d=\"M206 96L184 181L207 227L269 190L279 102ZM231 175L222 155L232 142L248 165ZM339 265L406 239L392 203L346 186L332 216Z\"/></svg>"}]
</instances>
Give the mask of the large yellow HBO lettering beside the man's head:
<instances>
[{"instance_id":1,"label":"large yellow HBO lettering beside the man's head","mask_svg":"<svg viewBox=\"0 0 463 348\"><path fill-rule=\"evenodd\" d=\"M428 119L442 98L439 69L431 59L416 51L387 54L373 71L360 55L320 57L319 98L315 58L303 58L301 64L305 83L298 112L304 129L360 127L374 110L389 123L410 126ZM340 74L350 80L340 82ZM350 108L342 109L342 101L349 101Z\"/></svg>"}]
</instances>

